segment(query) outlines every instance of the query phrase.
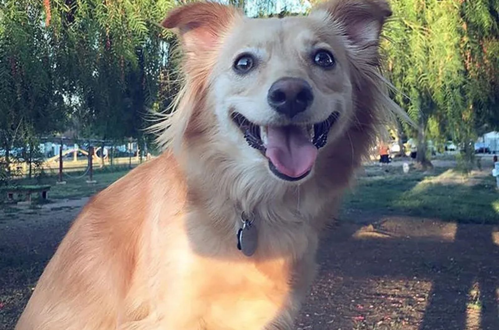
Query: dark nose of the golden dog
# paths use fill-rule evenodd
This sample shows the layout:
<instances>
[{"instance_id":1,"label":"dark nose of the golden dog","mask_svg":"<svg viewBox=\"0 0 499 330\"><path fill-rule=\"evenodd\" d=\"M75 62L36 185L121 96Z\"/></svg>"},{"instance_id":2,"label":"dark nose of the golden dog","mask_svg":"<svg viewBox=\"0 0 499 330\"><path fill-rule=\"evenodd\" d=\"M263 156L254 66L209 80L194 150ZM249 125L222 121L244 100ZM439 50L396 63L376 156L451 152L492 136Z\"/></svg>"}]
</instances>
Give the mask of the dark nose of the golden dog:
<instances>
[{"instance_id":1,"label":"dark nose of the golden dog","mask_svg":"<svg viewBox=\"0 0 499 330\"><path fill-rule=\"evenodd\" d=\"M312 88L301 78L280 78L270 86L267 94L268 104L289 118L305 111L312 101Z\"/></svg>"}]
</instances>

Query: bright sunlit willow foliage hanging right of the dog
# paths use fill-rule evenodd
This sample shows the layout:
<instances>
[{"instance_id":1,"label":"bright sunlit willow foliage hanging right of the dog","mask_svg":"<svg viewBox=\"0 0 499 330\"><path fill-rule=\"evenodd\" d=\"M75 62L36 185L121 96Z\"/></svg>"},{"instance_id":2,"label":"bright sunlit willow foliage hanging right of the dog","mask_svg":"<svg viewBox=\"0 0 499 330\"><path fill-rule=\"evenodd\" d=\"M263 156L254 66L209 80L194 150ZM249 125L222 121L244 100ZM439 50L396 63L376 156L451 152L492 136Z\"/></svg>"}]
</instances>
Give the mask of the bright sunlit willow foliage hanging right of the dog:
<instances>
[{"instance_id":1,"label":"bright sunlit willow foliage hanging right of the dog","mask_svg":"<svg viewBox=\"0 0 499 330\"><path fill-rule=\"evenodd\" d=\"M468 155L477 126L497 107L498 0L392 0L386 71L396 101L418 123L417 160L428 165L428 136L453 138ZM494 52L494 50L496 50Z\"/></svg>"}]
</instances>

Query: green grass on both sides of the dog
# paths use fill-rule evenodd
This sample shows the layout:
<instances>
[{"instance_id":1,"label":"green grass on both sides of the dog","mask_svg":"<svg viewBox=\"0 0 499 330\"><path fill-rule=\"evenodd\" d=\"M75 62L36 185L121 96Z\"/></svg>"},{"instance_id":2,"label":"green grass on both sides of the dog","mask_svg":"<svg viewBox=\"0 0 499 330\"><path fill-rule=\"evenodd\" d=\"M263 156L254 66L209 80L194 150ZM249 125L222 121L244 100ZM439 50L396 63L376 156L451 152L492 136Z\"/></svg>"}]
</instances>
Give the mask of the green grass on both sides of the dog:
<instances>
[{"instance_id":1,"label":"green grass on both sides of the dog","mask_svg":"<svg viewBox=\"0 0 499 330\"><path fill-rule=\"evenodd\" d=\"M449 168L404 174L401 167L366 166L358 184L346 194L343 210L391 212L403 215L440 218L461 223L499 223L499 192L495 178L487 171L460 174ZM113 171L114 170L114 171ZM55 184L57 176L42 179L20 179L18 184L50 184L49 198L81 198L106 188L128 172L128 168L96 170L94 184L88 176L65 176L64 185ZM71 173L76 177L78 173ZM15 209L4 206L4 213Z\"/></svg>"}]
</instances>

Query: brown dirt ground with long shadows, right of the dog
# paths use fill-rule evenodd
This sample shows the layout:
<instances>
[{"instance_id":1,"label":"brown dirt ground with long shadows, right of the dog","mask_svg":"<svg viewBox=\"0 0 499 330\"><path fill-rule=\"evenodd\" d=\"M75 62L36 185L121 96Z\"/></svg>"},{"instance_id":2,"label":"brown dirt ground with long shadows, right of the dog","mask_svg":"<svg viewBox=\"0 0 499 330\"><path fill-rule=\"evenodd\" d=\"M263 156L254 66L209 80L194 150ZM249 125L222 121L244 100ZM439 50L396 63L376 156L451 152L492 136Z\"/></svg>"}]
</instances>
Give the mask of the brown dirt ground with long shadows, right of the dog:
<instances>
[{"instance_id":1,"label":"brown dirt ground with long shadows, right of the dog","mask_svg":"<svg viewBox=\"0 0 499 330\"><path fill-rule=\"evenodd\" d=\"M496 227L380 220L342 224L325 239L297 329L499 329ZM480 313L469 325L469 292L477 285Z\"/></svg>"}]
</instances>

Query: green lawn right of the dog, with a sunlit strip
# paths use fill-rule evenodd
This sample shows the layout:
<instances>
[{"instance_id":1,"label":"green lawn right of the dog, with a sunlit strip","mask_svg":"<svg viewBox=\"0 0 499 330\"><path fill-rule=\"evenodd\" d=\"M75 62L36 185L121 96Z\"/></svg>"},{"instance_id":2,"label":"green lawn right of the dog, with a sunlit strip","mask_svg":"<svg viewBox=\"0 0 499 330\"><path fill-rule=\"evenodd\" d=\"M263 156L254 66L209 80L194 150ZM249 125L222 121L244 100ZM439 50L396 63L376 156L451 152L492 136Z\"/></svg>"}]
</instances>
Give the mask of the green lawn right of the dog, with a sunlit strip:
<instances>
[{"instance_id":1,"label":"green lawn right of the dog, with a sunlit strip","mask_svg":"<svg viewBox=\"0 0 499 330\"><path fill-rule=\"evenodd\" d=\"M463 175L454 169L402 173L400 168L367 168L345 196L343 209L392 212L460 223L499 223L495 178L484 172ZM388 166L387 166L388 167Z\"/></svg>"}]
</instances>

